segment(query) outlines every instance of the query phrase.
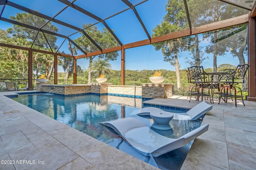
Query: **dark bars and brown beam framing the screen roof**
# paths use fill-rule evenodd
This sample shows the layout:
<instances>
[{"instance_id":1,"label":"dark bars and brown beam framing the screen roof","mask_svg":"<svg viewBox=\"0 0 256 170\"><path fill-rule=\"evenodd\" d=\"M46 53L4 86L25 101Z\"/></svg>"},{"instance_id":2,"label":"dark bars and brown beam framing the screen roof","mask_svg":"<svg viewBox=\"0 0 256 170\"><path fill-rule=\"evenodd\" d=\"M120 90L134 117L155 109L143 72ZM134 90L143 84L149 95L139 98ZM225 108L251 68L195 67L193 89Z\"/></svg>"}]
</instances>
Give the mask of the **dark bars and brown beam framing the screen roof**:
<instances>
[{"instance_id":1,"label":"dark bars and brown beam framing the screen roof","mask_svg":"<svg viewBox=\"0 0 256 170\"><path fill-rule=\"evenodd\" d=\"M59 2L61 2L62 4L65 4L66 5L66 8L69 6L69 7L76 7L76 8L74 8L74 9L78 9L79 8L79 6L76 6L75 4L74 4L74 2L76 2L76 0L73 0L72 2L70 2L70 1L68 1L68 0L58 0ZM134 14L136 15L136 13L138 13L137 11L136 11L136 6L137 5L139 5L139 4L143 4L144 2L147 2L148 0L143 0L143 1L140 1L139 3L137 3L137 4L132 4L129 0L122 0L122 2L124 2L127 6L128 6L128 8L126 8L126 9L124 9L124 10L121 10L120 12L118 12L118 13L116 13L116 14L113 14L112 16L108 16L108 17L106 17L105 19L102 19L102 18L99 18L99 17L97 17L96 15L94 15L94 14L91 14L91 13L87 13L88 11L86 11L86 10L81 10L81 11L83 11L84 13L86 13L86 14L88 14L88 16L92 16L93 18L95 18L96 20L97 20L97 22L96 23L94 23L94 24L92 24L91 26L93 26L93 25L95 25L95 24L97 24L97 23L99 23L99 22L102 22L103 24L104 24L104 26L106 26L106 28L108 29L108 30L111 30L111 28L110 27L108 27L108 25L106 24L106 22L105 22L105 20L106 19L108 19L108 18L111 18L111 17L113 17L113 16L116 16L116 15L118 15L118 14L120 14L120 13L122 13L122 12L124 12L124 11L126 11L126 10L129 10L129 9L132 9L133 11L134 11ZM184 0L184 6L185 6L185 8L186 8L186 15L187 15L187 18L188 18L188 23L189 23L189 27L190 27L190 29L189 30L183 30L183 31L180 31L180 32L174 32L174 33L171 33L171 34L167 34L167 35L164 35L164 36L160 36L160 37L156 37L156 38L151 38L150 37L150 35L148 34L148 30L147 30L147 28L144 26L144 23L143 23L143 21L140 19L140 16L139 15L136 15L136 18L138 19L138 22L140 22L140 24L141 24L141 26L142 26L142 28L143 28L143 30L145 31L145 34L147 34L147 36L148 36L148 39L146 39L146 40L141 40L141 41L138 41L138 42L133 42L133 43L128 43L128 44L122 44L122 42L120 42L120 40L118 39L118 37L117 36L114 36L115 38L117 38L119 41L119 43L120 43L120 46L116 46L116 47L112 47L112 48L109 48L109 49L102 49L96 42L94 42L94 40L92 39L92 38L90 38L90 36L88 36L88 34L86 35L86 32L84 32L84 29L85 28L78 28L78 27L76 27L76 32L82 32L82 34L84 34L92 43L94 43L94 45L98 45L97 47L98 47L98 49L99 49L99 51L94 51L94 52L92 52L92 53L86 53L85 51L83 51L83 55L77 55L77 56L74 56L74 59L79 59L79 58L83 58L83 57L89 57L89 56L92 56L92 55L98 55L98 54L102 54L102 53L108 53L108 52L111 52L111 51L117 51L117 50L125 50L125 49L127 49L127 48L132 48L132 47L138 47L138 46L141 46L141 45L147 45L147 44L151 44L151 43L156 43L156 42L162 42L162 41L166 41L166 40L172 40L172 39L174 39L174 38L181 38L181 37L185 37L185 36L190 36L190 35L194 35L194 34L199 34L199 33L202 33L202 32L208 32L208 31L213 31L213 30L218 30L218 29L221 29L221 28L226 28L226 27L230 27L230 26L235 26L235 25L238 25L238 24L242 24L242 23L248 23L248 22L251 22L252 23L252 21L253 21L253 18L252 17L255 17L256 16L256 10L255 10L255 1L254 1L254 6L252 6L252 8L251 8L251 6L246 6L246 5L243 5L243 4L238 4L238 3L236 3L235 2L235 0L218 0L218 1L220 1L220 2L224 2L224 3L228 3L228 4L231 4L231 5L233 5L233 6L237 6L237 7L239 7L239 8L243 8L243 9L246 9L246 10L250 10L251 12L247 15L244 15L244 16L240 16L240 17L236 17L236 18L231 18L231 19L228 19L228 20L223 20L223 21L221 21L221 22L216 22L216 23L213 23L213 24L208 24L208 25L206 25L206 26L199 26L199 27L195 27L195 28L192 28L192 26L191 26L191 23L190 23L190 14L189 14L189 12L188 12L188 6L186 6L186 0ZM39 16L43 16L43 18L45 18L46 20L47 19L50 19L50 18L48 18L48 16L46 17L46 15L44 15L44 14L41 14L41 13L39 13L39 12L36 12L36 11L34 11L34 10L30 10L29 8L26 8L26 7L24 7L24 6L20 6L20 5L14 5L15 3L13 3L12 1L9 1L9 0L0 0L0 5L2 5L2 6L6 6L6 5L10 5L10 6L16 6L16 7L18 7L18 8L20 8L20 9L23 9L24 11L26 11L26 12L30 12L31 14L37 14L37 15L39 15ZM59 12L57 12L56 13L56 15L55 16L58 16L58 14L60 14L63 10L65 10L66 8L63 8L62 10L60 10ZM4 18L4 17L2 17L2 13L4 12L4 8L2 8L2 11L1 11L1 14L0 14L0 21L2 20L2 21L4 21L4 22L9 22L9 23L12 23L12 24L17 24L17 25L20 25L20 26L24 26L24 24L22 24L22 23L17 23L17 22L14 22L14 21L12 21L12 20L9 20L9 19L7 19L7 18ZM55 17L54 16L54 17ZM75 28L74 26L72 26L72 25L70 25L70 24L68 24L68 23L63 23L62 21L58 21L58 20L56 20L56 19L54 19L54 17L51 17L51 21L52 22L58 22L58 23L61 23L62 25L64 25L64 26L68 26L69 28ZM49 20L49 21L50 21ZM236 21L234 21L234 20L236 20ZM30 26L29 26L30 27ZM210 28L209 28L210 27ZM250 31L250 30L252 30L250 27L252 27L252 26L249 26L249 34L252 34L252 31ZM30 27L31 28L31 27ZM38 32L42 32L42 33L47 33L47 34L49 34L50 32L49 31L47 31L47 30L43 30L42 29L43 28L43 26L41 27L41 28L34 28L35 30L38 30ZM255 26L254 26L254 28L255 28ZM111 31L110 31L111 32ZM251 32L251 33L250 33ZM52 35L58 35L58 36L61 36L62 38L66 38L67 40L71 40L71 39L68 39L68 36L70 36L70 35L68 35L68 36L64 36L64 35L60 35L60 34L57 34L57 33L51 33ZM250 38L250 36L249 36L249 38ZM46 40L47 41L47 40ZM249 40L249 42L250 41L254 41L255 42L255 39L254 40L252 40L252 38L251 38L251 40ZM70 41L70 42L72 42L72 40ZM72 43L74 43L74 42L72 42ZM10 47L10 45L4 45L4 44L2 44L2 43L0 43L0 45L1 46L9 46ZM74 43L74 45L75 45L75 43ZM76 47L78 47L78 45L75 45ZM12 47L14 47L14 46L12 46ZM250 47L250 46L249 46ZM250 49L251 49L251 51L252 51L252 46L250 47ZM35 49L31 49L32 51L36 51ZM81 49L80 49L81 50ZM82 50L81 50L82 51ZM252 54L252 52L251 51L249 51L249 53L250 53L250 55ZM46 53L48 53L48 52L46 52ZM255 50L254 50L254 53L255 53ZM66 55L66 54L60 54L60 53L54 53L53 51L52 51L52 54L54 54L54 55L65 55L65 56L68 56L68 57L70 57L69 55ZM124 55L124 53L122 52L122 55ZM249 56L249 58L251 59L252 57L250 57ZM124 56L122 56L122 61L124 61ZM255 56L254 56L254 61L255 61ZM252 61L252 63L253 63L253 61ZM122 63L121 63L121 65L122 65ZM252 67L250 67L250 69L251 69ZM122 69L124 69L124 68L122 68ZM254 63L254 70L255 70L255 63ZM254 71L255 72L255 71ZM252 71L252 73L254 73L253 71ZM122 75L123 75L123 77L124 77L124 70L122 71ZM255 76L255 75L254 75ZM254 80L255 81L255 80ZM124 83L124 81L122 81L122 83ZM254 85L255 85L255 83L254 83ZM255 95L254 95L255 96Z\"/></svg>"}]
</instances>

